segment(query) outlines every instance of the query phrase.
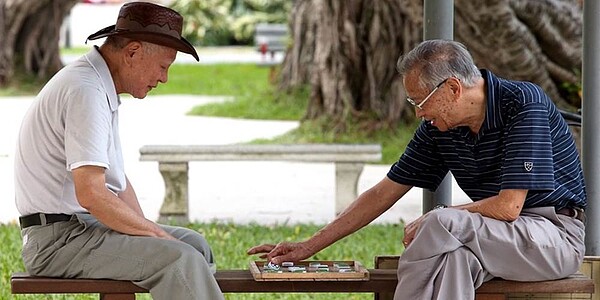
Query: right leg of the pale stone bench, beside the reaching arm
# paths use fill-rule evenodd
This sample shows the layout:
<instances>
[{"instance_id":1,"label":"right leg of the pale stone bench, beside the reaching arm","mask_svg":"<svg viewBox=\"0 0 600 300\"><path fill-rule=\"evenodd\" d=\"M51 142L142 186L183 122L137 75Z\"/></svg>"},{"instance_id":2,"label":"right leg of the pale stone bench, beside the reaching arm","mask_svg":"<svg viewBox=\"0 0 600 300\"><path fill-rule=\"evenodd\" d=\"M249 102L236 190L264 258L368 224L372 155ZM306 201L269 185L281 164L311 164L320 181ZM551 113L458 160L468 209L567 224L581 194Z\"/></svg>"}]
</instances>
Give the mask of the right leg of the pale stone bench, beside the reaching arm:
<instances>
[{"instance_id":1,"label":"right leg of the pale stone bench, beside the reaching arm","mask_svg":"<svg viewBox=\"0 0 600 300\"><path fill-rule=\"evenodd\" d=\"M339 215L358 195L358 178L362 163L335 164L335 214Z\"/></svg>"}]
</instances>

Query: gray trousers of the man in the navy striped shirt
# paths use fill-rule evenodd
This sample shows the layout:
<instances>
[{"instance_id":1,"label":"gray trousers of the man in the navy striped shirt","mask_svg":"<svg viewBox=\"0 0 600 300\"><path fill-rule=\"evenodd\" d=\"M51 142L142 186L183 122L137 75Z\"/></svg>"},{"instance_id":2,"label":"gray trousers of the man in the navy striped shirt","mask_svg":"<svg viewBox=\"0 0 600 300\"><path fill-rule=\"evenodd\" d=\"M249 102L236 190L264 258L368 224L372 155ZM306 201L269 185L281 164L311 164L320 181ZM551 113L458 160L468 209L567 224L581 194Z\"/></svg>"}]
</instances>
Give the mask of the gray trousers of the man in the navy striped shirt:
<instances>
[{"instance_id":1,"label":"gray trousers of the man in the navy striped shirt","mask_svg":"<svg viewBox=\"0 0 600 300\"><path fill-rule=\"evenodd\" d=\"M466 210L432 211L400 257L394 299L475 299L475 289L494 277L567 277L583 261L584 235L581 221L553 207L524 209L514 222Z\"/></svg>"}]
</instances>

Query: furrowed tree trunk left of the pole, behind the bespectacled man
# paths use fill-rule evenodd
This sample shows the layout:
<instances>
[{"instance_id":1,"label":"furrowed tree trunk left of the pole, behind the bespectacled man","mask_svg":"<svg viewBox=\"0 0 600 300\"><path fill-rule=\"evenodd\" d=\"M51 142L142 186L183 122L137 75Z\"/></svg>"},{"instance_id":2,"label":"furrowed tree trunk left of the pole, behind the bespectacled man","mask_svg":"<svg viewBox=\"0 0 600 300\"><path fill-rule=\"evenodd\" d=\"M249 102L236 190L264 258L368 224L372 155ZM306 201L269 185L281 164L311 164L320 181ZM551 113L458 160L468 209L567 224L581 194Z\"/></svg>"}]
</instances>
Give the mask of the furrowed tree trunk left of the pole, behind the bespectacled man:
<instances>
[{"instance_id":1,"label":"furrowed tree trunk left of the pole, behind the bespectacled man","mask_svg":"<svg viewBox=\"0 0 600 300\"><path fill-rule=\"evenodd\" d=\"M296 1L280 87L310 84L309 119L398 119L407 109L395 60L419 41L420 11L397 0Z\"/></svg>"}]
</instances>

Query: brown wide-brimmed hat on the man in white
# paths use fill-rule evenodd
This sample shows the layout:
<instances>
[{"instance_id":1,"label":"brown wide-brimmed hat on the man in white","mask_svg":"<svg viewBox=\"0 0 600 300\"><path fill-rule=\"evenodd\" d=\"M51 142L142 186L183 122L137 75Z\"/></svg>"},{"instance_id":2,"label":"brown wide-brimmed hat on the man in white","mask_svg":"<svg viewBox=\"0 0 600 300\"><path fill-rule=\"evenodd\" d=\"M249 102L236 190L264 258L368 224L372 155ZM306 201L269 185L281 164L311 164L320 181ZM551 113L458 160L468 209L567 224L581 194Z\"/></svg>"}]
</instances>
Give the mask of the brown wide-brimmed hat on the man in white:
<instances>
[{"instance_id":1,"label":"brown wide-brimmed hat on the man in white","mask_svg":"<svg viewBox=\"0 0 600 300\"><path fill-rule=\"evenodd\" d=\"M121 7L117 24L101 29L87 39L111 35L128 37L191 54L198 61L196 49L181 37L182 26L183 17L170 8L148 2L130 2Z\"/></svg>"}]
</instances>

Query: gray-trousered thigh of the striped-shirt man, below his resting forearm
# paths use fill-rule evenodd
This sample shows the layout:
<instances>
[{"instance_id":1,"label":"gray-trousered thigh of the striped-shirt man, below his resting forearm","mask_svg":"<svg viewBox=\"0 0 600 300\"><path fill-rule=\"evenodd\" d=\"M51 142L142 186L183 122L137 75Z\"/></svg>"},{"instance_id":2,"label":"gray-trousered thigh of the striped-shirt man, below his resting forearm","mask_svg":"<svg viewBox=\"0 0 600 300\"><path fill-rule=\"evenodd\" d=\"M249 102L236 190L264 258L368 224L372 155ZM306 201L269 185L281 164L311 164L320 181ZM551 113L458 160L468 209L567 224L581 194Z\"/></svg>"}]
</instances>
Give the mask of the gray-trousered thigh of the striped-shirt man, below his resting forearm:
<instances>
[{"instance_id":1,"label":"gray-trousered thigh of the striped-shirt man, below his resting forearm","mask_svg":"<svg viewBox=\"0 0 600 300\"><path fill-rule=\"evenodd\" d=\"M438 218L496 277L556 279L575 272L583 259L583 225L559 218L551 207L526 209L513 222L451 210Z\"/></svg>"}]
</instances>

